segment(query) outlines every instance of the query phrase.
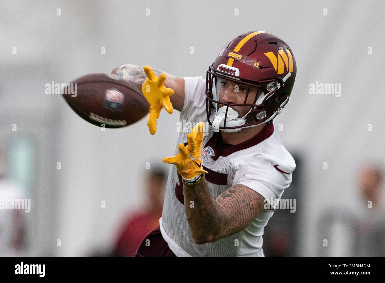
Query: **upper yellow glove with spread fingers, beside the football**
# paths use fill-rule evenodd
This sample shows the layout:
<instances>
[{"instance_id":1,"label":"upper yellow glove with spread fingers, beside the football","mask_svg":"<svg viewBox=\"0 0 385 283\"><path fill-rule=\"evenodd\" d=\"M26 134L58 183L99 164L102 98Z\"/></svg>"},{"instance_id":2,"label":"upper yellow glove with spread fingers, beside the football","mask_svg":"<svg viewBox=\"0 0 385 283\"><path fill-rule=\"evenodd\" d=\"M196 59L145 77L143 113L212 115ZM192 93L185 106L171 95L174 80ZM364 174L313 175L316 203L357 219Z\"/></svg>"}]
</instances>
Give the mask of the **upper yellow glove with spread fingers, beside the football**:
<instances>
[{"instance_id":1,"label":"upper yellow glove with spread fingers, beside the football","mask_svg":"<svg viewBox=\"0 0 385 283\"><path fill-rule=\"evenodd\" d=\"M150 104L147 126L150 134L153 135L156 133L156 119L159 118L162 109L164 108L169 114L172 114L170 96L174 94L174 90L164 86L166 74L161 74L158 78L149 66L144 66L144 72L147 79L143 83L142 92Z\"/></svg>"}]
</instances>

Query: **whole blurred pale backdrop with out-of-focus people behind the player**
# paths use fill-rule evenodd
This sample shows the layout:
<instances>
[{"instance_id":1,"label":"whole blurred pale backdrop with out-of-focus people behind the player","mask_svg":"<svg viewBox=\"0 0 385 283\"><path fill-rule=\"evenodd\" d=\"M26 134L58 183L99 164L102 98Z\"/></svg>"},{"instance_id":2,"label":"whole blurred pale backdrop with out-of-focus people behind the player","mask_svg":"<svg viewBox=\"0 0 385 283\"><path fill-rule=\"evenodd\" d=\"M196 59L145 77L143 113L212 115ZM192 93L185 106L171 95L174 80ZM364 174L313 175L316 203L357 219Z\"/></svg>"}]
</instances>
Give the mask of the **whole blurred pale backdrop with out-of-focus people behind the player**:
<instances>
[{"instance_id":1,"label":"whole blurred pale backdrop with out-of-focus people behind the player","mask_svg":"<svg viewBox=\"0 0 385 283\"><path fill-rule=\"evenodd\" d=\"M179 114L162 112L155 136L146 119L101 131L45 84L123 63L205 77L223 45L249 30L285 40L298 68L290 104L274 120L298 166L283 194L296 212L270 219L265 255L385 255L384 8L2 0L0 199L31 199L31 211L0 210L0 255L130 255L161 215L169 170L161 158L176 146ZM340 84L340 97L311 94L316 82Z\"/></svg>"}]
</instances>

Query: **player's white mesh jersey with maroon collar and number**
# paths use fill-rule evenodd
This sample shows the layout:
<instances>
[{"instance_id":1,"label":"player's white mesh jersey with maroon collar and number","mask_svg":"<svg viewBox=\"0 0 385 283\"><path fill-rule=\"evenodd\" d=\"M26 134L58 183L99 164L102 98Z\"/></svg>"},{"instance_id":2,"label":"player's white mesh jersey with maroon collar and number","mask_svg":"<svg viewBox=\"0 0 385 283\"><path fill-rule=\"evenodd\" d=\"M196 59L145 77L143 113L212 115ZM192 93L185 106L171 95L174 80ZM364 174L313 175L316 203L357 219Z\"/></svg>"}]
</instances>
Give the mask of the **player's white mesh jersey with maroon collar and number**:
<instances>
[{"instance_id":1,"label":"player's white mesh jersey with maroon collar and number","mask_svg":"<svg viewBox=\"0 0 385 283\"><path fill-rule=\"evenodd\" d=\"M198 122L207 122L206 80L202 77L185 77L184 106L180 115L182 126L177 145L187 144L187 134ZM267 203L280 199L290 186L291 173L296 165L293 157L282 145L273 123L252 139L223 149L216 149L218 133L206 128L203 139L202 162L209 173L205 178L211 195L216 199L224 190L243 184L261 194ZM177 146L174 155L178 153ZM170 154L171 155L171 154ZM285 172L285 173L284 173ZM244 230L214 243L195 244L184 211L182 178L171 166L166 185L161 233L177 256L263 256L262 235L273 210L263 210Z\"/></svg>"}]
</instances>

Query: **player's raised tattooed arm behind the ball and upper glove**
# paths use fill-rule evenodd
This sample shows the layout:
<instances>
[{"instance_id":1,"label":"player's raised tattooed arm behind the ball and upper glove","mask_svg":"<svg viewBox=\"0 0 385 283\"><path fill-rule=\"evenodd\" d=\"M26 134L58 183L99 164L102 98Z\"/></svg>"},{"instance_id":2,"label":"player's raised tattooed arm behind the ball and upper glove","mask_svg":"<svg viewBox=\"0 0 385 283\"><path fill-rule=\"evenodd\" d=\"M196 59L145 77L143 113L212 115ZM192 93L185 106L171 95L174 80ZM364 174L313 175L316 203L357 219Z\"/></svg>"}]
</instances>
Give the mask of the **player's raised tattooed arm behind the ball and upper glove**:
<instances>
[{"instance_id":1,"label":"player's raised tattooed arm behind the ball and upper glove","mask_svg":"<svg viewBox=\"0 0 385 283\"><path fill-rule=\"evenodd\" d=\"M166 82L164 86L170 87L174 90L174 94L170 96L173 108L178 111L182 111L184 104L184 79L181 77L175 77L158 69L151 69L157 77L161 74L166 74ZM142 66L122 64L112 70L111 74L118 75L119 77L134 83L138 88L137 91L142 93L142 85L147 79L147 75Z\"/></svg>"}]
</instances>

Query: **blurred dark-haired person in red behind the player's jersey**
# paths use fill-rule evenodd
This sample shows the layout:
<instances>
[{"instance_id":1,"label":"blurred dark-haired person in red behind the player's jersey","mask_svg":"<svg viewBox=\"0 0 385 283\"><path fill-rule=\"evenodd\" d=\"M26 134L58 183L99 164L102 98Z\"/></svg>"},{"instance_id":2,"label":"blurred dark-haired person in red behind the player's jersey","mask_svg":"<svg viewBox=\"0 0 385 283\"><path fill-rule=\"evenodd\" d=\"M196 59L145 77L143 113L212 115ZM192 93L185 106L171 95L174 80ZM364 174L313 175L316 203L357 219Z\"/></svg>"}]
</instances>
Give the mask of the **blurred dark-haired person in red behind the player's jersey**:
<instances>
[{"instance_id":1,"label":"blurred dark-haired person in red behind the player's jersey","mask_svg":"<svg viewBox=\"0 0 385 283\"><path fill-rule=\"evenodd\" d=\"M144 237L159 226L162 217L166 174L162 169L151 169L146 181L146 204L141 211L130 213L122 226L114 255L134 256Z\"/></svg>"}]
</instances>

